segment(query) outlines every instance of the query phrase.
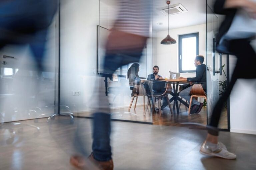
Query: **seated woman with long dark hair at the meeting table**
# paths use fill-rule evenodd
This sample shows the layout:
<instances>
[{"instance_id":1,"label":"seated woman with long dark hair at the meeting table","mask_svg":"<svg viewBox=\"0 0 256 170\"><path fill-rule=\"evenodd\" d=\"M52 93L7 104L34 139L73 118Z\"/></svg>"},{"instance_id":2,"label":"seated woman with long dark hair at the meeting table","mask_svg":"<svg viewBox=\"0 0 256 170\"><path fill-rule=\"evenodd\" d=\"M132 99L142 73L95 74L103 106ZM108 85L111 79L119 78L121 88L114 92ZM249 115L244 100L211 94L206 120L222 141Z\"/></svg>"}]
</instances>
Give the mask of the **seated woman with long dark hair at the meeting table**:
<instances>
[{"instance_id":1,"label":"seated woman with long dark hair at the meeting table","mask_svg":"<svg viewBox=\"0 0 256 170\"><path fill-rule=\"evenodd\" d=\"M140 64L133 63L127 71L127 78L129 79L130 89L133 94L145 95L144 86L141 85L141 80L139 78L138 72L140 71Z\"/></svg>"}]
</instances>

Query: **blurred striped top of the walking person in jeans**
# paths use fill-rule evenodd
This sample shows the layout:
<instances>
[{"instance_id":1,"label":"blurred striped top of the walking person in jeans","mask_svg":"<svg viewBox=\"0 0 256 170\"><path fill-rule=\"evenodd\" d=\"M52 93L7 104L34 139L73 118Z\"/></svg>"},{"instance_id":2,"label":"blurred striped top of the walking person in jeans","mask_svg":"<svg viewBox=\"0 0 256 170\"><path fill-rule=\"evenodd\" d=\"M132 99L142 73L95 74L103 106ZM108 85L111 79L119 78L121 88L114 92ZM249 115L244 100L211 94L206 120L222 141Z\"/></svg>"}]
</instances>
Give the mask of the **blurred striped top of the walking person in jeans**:
<instances>
[{"instance_id":1,"label":"blurred striped top of the walking person in jeans","mask_svg":"<svg viewBox=\"0 0 256 170\"><path fill-rule=\"evenodd\" d=\"M152 0L118 1L119 11L114 28L119 31L149 37Z\"/></svg>"}]
</instances>

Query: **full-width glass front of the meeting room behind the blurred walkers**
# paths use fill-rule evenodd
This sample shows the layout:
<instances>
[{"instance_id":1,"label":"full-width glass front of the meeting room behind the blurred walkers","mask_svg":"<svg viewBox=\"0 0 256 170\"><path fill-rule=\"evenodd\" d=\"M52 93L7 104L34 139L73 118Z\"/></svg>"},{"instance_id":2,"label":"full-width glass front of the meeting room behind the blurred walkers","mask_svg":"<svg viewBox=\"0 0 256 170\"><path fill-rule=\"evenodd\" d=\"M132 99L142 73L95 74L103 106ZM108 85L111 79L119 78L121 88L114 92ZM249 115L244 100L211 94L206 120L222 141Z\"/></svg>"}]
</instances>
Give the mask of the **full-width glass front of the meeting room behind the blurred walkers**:
<instances>
[{"instance_id":1,"label":"full-width glass front of the meeting room behind the blurred walkers","mask_svg":"<svg viewBox=\"0 0 256 170\"><path fill-rule=\"evenodd\" d=\"M152 113L151 106L158 102L150 99L151 106L146 108L147 112L144 115L143 108L147 106L150 95L134 96L132 94L127 72L134 63L130 63L118 68L111 80L108 78L107 82L104 82L104 79L100 81L104 84L102 90L107 92L102 98L108 95L112 119L167 126L179 126L178 123L183 122L207 124L215 102L225 89L225 84L229 82L229 56L219 54L215 50L214 39L222 18L213 13L214 1L193 1L191 3L189 0L172 0L169 6L168 25L166 2L153 0L153 12L149 16L152 23L150 38L137 64L139 65L138 77L143 86L148 75L153 73L154 65L159 67L158 74L165 79L170 78L170 72L179 72L181 77L195 77L194 57L197 54L204 55L204 63L208 67L208 102L204 102L203 99L199 99L199 102L204 102L207 106L203 107L199 114L188 115L188 102L185 99L182 99L183 103L180 101L174 103L172 100L171 107L174 112L171 113L167 106L160 115L158 110ZM174 8L178 11L172 11ZM96 80L99 79L102 69L105 42L115 20L117 9L115 0L89 2L62 0L60 2L60 48L57 13L49 28L43 71L36 69L33 54L28 45L8 45L2 48L0 51L1 123L56 114L59 96L60 113L72 113L75 116L90 118L94 112L92 105L96 98L95 86L99 85L99 81ZM168 33L176 40L175 44L160 43ZM58 80L56 73L58 73L59 49L60 79ZM56 90L59 82L60 93ZM173 84L170 85L174 90ZM178 87L177 92L180 90ZM169 94L168 97L171 99L173 96ZM97 103L97 105L101 104ZM160 105L163 104L164 100L161 100ZM158 104L155 107L159 108ZM228 113L229 102L223 109L219 128L229 129Z\"/></svg>"}]
</instances>

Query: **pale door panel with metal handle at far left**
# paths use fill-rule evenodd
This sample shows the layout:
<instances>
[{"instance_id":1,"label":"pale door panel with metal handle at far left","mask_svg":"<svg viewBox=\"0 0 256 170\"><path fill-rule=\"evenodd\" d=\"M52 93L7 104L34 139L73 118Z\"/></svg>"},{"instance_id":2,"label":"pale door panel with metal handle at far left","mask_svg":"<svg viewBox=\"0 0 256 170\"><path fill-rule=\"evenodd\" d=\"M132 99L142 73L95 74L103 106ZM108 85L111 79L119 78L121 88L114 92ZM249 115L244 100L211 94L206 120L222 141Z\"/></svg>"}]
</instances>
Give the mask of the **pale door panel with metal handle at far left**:
<instances>
[{"instance_id":1,"label":"pale door panel with metal handle at far left","mask_svg":"<svg viewBox=\"0 0 256 170\"><path fill-rule=\"evenodd\" d=\"M57 18L48 29L41 70L29 45L6 45L0 50L0 123L54 114Z\"/></svg>"}]
</instances>

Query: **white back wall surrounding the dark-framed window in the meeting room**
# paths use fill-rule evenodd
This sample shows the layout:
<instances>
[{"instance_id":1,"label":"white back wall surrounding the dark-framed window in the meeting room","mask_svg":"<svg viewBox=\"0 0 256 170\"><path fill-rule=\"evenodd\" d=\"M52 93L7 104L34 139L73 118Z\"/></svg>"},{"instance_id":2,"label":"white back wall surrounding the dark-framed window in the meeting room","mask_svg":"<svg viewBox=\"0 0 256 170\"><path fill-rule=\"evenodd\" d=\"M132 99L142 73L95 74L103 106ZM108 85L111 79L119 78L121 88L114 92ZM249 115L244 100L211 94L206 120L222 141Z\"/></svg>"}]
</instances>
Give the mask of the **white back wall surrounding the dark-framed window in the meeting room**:
<instances>
[{"instance_id":1,"label":"white back wall surrounding the dark-framed window in the meeting room","mask_svg":"<svg viewBox=\"0 0 256 170\"><path fill-rule=\"evenodd\" d=\"M205 56L206 54L206 24L183 27L178 29L169 30L169 34L172 38L176 40L176 44L172 45L163 45L160 42L167 36L168 32L160 31L157 33L157 38L154 39L157 42L155 48L157 53L153 56L153 65L159 66L159 74L161 76L169 75L169 71L179 72L178 68L178 44L179 44L179 35L190 34L190 33L199 33L199 55ZM206 59L205 62L206 63ZM194 77L195 73L182 73L183 77Z\"/></svg>"}]
</instances>

